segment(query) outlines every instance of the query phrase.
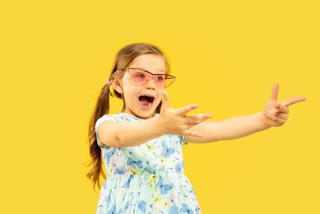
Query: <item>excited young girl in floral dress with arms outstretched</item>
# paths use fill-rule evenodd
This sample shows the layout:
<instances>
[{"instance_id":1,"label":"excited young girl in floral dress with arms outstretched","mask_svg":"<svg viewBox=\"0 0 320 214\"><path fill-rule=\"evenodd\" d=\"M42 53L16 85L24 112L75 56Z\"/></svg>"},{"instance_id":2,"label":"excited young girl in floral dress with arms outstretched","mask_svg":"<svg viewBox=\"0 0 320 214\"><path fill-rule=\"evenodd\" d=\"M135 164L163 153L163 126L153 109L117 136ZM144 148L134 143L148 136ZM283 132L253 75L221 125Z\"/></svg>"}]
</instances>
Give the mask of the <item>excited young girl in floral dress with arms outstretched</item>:
<instances>
[{"instance_id":1,"label":"excited young girl in floral dress with arms outstretched","mask_svg":"<svg viewBox=\"0 0 320 214\"><path fill-rule=\"evenodd\" d=\"M263 112L205 121L210 114L186 115L196 104L170 108L164 88L175 77L169 74L166 57L154 45L129 44L118 52L89 123L93 169L87 177L99 188L100 175L106 179L97 213L201 213L184 174L181 146L235 139L281 126L288 118L288 106L306 100L295 97L277 102L279 85L275 84ZM123 100L116 114L108 114L110 86Z\"/></svg>"}]
</instances>

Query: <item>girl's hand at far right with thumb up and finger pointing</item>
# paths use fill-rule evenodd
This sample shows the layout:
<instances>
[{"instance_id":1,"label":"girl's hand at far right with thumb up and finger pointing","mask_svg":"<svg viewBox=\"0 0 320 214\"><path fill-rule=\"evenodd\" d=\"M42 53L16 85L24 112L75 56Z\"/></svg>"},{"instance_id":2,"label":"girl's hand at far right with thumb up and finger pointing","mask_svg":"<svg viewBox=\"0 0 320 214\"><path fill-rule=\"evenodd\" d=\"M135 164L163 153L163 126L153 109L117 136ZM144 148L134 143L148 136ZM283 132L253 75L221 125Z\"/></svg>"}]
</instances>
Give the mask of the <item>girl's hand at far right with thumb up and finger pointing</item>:
<instances>
[{"instance_id":1,"label":"girl's hand at far right with thumb up and finger pointing","mask_svg":"<svg viewBox=\"0 0 320 214\"><path fill-rule=\"evenodd\" d=\"M288 106L306 100L306 97L294 97L277 102L278 91L279 84L276 83L273 85L270 98L264 107L263 122L267 127L282 126L288 118Z\"/></svg>"}]
</instances>

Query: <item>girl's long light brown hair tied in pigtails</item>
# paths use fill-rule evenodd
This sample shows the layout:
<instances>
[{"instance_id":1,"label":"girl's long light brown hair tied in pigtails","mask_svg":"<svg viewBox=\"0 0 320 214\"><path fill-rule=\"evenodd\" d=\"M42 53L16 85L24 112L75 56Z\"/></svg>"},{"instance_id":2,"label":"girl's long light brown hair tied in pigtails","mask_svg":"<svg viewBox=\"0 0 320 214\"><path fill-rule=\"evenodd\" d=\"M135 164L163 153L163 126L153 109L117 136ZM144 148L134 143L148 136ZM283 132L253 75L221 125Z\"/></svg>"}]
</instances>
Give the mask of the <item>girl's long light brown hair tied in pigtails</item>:
<instances>
[{"instance_id":1,"label":"girl's long light brown hair tied in pigtails","mask_svg":"<svg viewBox=\"0 0 320 214\"><path fill-rule=\"evenodd\" d=\"M124 46L116 55L115 61L113 62L109 80L111 79L121 79L124 75L124 70L119 70L120 68L128 67L129 64L134 60L134 58L144 55L144 54L154 54L163 57L166 65L166 74L170 74L171 68L167 57L164 55L163 51L152 44L148 43L133 43ZM116 98L123 99L121 93L113 89L113 94ZM89 129L88 129L88 141L89 141L89 153L92 160L87 165L87 167L93 164L93 168L87 173L87 177L92 180L95 185L97 184L99 189L100 185L100 175L106 179L106 175L102 168L102 152L98 146L97 136L95 132L95 125L97 120L105 114L109 113L109 96L113 97L109 85L105 84L101 89L99 97L96 101L94 111L90 117ZM123 100L124 101L124 100ZM155 109L155 113L160 113L162 101L159 103Z\"/></svg>"}]
</instances>

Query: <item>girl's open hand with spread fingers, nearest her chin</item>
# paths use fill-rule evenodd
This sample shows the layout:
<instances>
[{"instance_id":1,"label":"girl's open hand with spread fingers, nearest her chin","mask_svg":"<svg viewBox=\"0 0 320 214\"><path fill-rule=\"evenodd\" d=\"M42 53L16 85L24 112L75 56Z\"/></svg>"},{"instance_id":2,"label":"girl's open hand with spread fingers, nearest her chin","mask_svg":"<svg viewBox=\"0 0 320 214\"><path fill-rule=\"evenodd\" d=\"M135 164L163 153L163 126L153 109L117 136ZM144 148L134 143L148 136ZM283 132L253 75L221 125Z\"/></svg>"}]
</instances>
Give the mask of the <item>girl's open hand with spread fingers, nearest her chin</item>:
<instances>
[{"instance_id":1,"label":"girl's open hand with spread fingers, nearest her chin","mask_svg":"<svg viewBox=\"0 0 320 214\"><path fill-rule=\"evenodd\" d=\"M202 137L200 132L193 131L190 128L211 118L211 114L194 114L187 116L186 114L188 112L198 107L196 104L184 106L179 109L172 109L169 106L168 92L164 90L163 96L164 99L158 116L161 121L161 128L164 129L163 131L166 134Z\"/></svg>"}]
</instances>

